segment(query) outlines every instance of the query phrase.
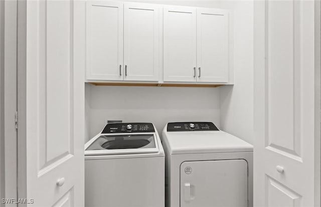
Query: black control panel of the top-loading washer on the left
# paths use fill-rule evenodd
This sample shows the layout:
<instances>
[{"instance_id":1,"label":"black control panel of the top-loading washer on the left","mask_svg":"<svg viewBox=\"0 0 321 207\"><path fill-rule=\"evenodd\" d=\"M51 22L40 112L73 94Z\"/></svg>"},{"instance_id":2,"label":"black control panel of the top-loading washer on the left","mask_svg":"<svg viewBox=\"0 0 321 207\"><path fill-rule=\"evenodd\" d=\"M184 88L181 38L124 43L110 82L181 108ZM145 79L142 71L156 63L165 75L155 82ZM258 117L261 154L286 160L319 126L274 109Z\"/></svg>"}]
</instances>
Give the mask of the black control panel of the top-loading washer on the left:
<instances>
[{"instance_id":1,"label":"black control panel of the top-loading washer on the left","mask_svg":"<svg viewBox=\"0 0 321 207\"><path fill-rule=\"evenodd\" d=\"M103 134L139 132L155 132L155 130L152 123L112 123L107 124L102 130Z\"/></svg>"}]
</instances>

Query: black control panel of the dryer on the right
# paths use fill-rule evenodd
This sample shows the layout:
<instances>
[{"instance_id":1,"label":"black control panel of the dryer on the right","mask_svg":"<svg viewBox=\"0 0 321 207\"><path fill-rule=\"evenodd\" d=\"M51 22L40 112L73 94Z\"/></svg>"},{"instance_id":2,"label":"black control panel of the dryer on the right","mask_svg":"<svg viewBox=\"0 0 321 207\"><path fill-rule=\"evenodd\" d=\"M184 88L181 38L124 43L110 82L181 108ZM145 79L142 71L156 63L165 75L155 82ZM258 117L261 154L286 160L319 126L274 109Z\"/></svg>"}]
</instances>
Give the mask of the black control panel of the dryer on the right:
<instances>
[{"instance_id":1,"label":"black control panel of the dryer on the right","mask_svg":"<svg viewBox=\"0 0 321 207\"><path fill-rule=\"evenodd\" d=\"M219 131L212 122L173 122L168 123L167 131Z\"/></svg>"}]
</instances>

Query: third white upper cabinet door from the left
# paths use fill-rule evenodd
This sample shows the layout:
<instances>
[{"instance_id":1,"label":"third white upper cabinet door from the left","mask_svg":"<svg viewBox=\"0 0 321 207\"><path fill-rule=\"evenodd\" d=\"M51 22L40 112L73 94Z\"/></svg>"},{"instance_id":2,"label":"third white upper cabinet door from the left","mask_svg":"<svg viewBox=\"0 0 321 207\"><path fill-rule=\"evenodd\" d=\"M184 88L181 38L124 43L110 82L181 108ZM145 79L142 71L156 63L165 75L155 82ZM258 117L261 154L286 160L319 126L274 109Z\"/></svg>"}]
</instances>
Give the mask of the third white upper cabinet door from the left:
<instances>
[{"instance_id":1,"label":"third white upper cabinet door from the left","mask_svg":"<svg viewBox=\"0 0 321 207\"><path fill-rule=\"evenodd\" d=\"M164 8L164 81L196 81L196 8Z\"/></svg>"}]
</instances>

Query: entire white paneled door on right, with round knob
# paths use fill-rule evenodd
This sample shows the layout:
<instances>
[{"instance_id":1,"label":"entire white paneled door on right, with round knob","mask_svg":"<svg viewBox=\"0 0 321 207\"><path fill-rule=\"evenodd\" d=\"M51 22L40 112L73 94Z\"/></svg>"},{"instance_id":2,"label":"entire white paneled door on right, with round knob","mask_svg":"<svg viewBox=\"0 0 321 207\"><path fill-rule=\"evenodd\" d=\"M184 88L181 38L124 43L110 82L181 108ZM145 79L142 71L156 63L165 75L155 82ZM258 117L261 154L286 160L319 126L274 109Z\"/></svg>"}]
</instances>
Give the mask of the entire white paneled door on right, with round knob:
<instances>
[{"instance_id":1,"label":"entire white paneled door on right, with round knob","mask_svg":"<svg viewBox=\"0 0 321 207\"><path fill-rule=\"evenodd\" d=\"M319 206L314 12L314 1L254 2L254 206Z\"/></svg>"}]
</instances>

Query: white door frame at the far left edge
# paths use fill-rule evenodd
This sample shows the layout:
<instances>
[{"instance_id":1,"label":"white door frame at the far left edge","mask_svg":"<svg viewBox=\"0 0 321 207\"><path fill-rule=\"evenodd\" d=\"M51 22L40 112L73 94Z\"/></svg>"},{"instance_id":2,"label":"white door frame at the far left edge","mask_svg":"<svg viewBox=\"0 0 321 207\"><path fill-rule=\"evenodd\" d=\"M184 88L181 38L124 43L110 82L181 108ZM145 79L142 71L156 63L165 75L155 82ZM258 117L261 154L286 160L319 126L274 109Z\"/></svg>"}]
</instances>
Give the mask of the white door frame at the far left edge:
<instances>
[{"instance_id":1,"label":"white door frame at the far left edge","mask_svg":"<svg viewBox=\"0 0 321 207\"><path fill-rule=\"evenodd\" d=\"M0 2L0 197L12 198L12 202L18 198L18 136L15 126L17 111L17 4L17 0ZM6 204L1 200L0 206L6 206Z\"/></svg>"}]
</instances>

